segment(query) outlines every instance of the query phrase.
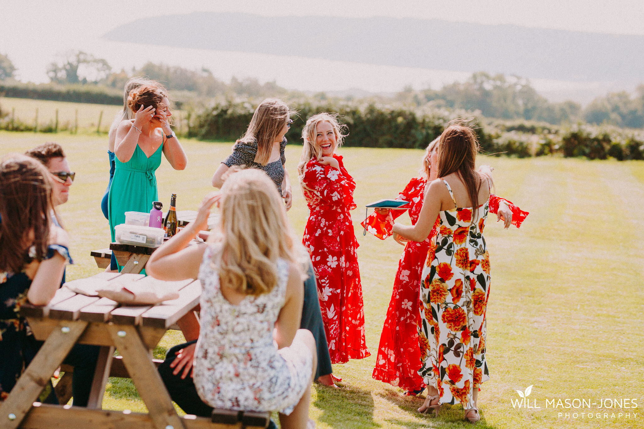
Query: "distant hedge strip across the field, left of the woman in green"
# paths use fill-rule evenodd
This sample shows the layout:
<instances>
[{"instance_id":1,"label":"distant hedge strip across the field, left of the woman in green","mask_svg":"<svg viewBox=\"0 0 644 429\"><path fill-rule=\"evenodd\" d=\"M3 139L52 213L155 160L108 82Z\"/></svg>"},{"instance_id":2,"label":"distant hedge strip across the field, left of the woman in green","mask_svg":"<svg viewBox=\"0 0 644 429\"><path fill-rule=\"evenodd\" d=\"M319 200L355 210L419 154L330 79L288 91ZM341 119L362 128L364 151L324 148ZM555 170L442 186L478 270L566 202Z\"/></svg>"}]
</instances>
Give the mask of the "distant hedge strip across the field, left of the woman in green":
<instances>
[{"instance_id":1,"label":"distant hedge strip across the field, left of the woman in green","mask_svg":"<svg viewBox=\"0 0 644 429\"><path fill-rule=\"evenodd\" d=\"M6 84L0 83L0 96L32 98L74 103L123 105L123 95L116 89L92 85Z\"/></svg>"}]
</instances>

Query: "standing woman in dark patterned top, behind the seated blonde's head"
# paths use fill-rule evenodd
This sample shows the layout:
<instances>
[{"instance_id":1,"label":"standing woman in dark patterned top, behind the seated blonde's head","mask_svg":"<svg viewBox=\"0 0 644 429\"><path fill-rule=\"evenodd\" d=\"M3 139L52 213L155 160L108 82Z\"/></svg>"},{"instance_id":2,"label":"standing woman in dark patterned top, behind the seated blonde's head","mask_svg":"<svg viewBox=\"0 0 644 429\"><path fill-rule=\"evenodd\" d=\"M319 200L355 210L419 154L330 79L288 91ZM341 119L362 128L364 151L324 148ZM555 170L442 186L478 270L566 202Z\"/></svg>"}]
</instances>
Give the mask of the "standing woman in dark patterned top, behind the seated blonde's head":
<instances>
[{"instance_id":1,"label":"standing woman in dark patterned top, behind the seated blonde's head","mask_svg":"<svg viewBox=\"0 0 644 429\"><path fill-rule=\"evenodd\" d=\"M213 174L213 187L221 188L229 169L263 170L278 188L289 210L293 193L289 172L284 168L287 145L285 134L293 120L289 106L278 98L266 98L252 114L251 123L242 138L235 142L232 154L222 161Z\"/></svg>"}]
</instances>

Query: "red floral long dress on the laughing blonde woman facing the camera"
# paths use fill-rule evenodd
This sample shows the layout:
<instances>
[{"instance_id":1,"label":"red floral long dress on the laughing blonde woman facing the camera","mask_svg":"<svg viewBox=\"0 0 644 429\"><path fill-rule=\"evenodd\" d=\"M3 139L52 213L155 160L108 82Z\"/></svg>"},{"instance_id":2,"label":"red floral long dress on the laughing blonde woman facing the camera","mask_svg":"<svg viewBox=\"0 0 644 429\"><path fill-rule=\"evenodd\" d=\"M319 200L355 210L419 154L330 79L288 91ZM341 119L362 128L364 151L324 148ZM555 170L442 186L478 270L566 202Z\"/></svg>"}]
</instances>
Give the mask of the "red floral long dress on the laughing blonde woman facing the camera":
<instances>
[{"instance_id":1,"label":"red floral long dress on the laughing blonde woman facing the camera","mask_svg":"<svg viewBox=\"0 0 644 429\"><path fill-rule=\"evenodd\" d=\"M332 363L370 356L365 342L365 309L349 210L354 203L354 179L342 157L340 169L308 161L302 192L310 210L303 244L317 274L317 295Z\"/></svg>"}]
</instances>

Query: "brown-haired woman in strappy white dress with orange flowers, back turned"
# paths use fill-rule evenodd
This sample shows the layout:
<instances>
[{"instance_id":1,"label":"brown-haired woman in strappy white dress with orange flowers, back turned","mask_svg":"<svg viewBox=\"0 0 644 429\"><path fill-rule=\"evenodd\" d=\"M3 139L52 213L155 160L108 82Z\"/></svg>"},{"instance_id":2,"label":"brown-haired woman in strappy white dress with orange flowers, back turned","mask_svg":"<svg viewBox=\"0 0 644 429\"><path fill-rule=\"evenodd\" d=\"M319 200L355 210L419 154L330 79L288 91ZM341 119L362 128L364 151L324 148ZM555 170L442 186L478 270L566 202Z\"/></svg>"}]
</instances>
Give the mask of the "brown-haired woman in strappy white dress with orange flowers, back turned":
<instances>
[{"instance_id":1,"label":"brown-haired woman in strappy white dress with orange flowers, back turned","mask_svg":"<svg viewBox=\"0 0 644 429\"><path fill-rule=\"evenodd\" d=\"M419 370L436 394L430 392L419 411L460 402L471 422L480 418L478 388L489 379L485 315L490 276L483 230L491 178L475 170L477 152L471 128L445 129L438 145L439 179L428 185L418 221L413 226L393 225L393 233L420 242L439 223L421 275Z\"/></svg>"}]
</instances>

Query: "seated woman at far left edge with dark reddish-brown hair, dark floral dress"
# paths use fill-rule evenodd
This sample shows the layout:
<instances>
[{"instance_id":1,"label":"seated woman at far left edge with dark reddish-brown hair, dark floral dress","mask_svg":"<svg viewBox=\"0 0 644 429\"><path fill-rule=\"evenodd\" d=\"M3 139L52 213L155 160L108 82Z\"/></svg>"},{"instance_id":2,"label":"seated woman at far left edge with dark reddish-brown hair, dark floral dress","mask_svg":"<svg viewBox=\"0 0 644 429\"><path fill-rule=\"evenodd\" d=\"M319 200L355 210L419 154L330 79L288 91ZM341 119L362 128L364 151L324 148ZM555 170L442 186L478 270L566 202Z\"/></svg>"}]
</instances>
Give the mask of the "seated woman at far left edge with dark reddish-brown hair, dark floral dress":
<instances>
[{"instance_id":1,"label":"seated woman at far left edge with dark reddish-brown hair, dark floral dress","mask_svg":"<svg viewBox=\"0 0 644 429\"><path fill-rule=\"evenodd\" d=\"M43 344L21 316L21 306L48 304L71 263L67 232L52 222L49 177L44 165L28 156L0 163L0 400ZM98 352L98 346L75 345L64 361L74 366L73 405L87 405ZM51 383L39 400L57 403Z\"/></svg>"}]
</instances>

